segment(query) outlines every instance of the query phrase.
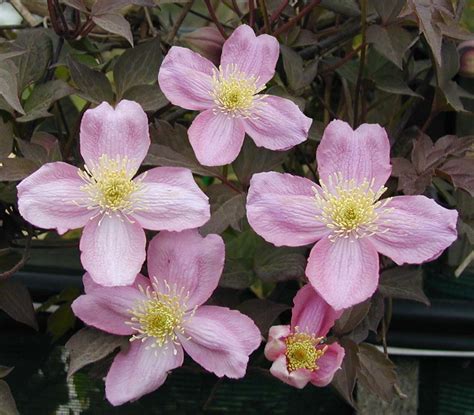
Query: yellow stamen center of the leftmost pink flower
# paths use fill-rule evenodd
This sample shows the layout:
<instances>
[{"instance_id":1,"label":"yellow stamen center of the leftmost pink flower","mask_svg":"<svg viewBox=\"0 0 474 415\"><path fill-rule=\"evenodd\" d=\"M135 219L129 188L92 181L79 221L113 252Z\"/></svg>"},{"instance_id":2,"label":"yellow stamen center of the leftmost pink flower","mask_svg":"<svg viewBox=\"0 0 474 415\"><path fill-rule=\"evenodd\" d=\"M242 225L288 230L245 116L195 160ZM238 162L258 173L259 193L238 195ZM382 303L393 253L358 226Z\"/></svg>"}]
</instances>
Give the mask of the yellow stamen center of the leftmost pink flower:
<instances>
[{"instance_id":1,"label":"yellow stamen center of the leftmost pink flower","mask_svg":"<svg viewBox=\"0 0 474 415\"><path fill-rule=\"evenodd\" d=\"M103 154L96 166L85 166L85 171L79 170L79 176L86 182L81 190L88 194L91 208L99 206L102 212L131 213L137 207L134 196L141 183L132 180L129 163L126 157L109 159Z\"/></svg>"}]
</instances>

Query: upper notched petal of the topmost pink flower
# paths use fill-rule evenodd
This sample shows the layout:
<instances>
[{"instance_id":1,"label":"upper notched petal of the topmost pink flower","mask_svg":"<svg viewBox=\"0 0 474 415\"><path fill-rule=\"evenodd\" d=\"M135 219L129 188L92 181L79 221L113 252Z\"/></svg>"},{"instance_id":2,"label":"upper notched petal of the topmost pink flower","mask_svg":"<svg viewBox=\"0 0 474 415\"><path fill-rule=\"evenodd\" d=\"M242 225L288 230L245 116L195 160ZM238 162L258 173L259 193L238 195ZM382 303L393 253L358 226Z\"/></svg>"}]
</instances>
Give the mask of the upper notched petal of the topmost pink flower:
<instances>
[{"instance_id":1,"label":"upper notched petal of the topmost pink flower","mask_svg":"<svg viewBox=\"0 0 474 415\"><path fill-rule=\"evenodd\" d=\"M250 26L234 30L222 48L221 66L237 65L239 71L258 78L257 85L266 84L275 74L280 45L273 36L255 36Z\"/></svg>"}]
</instances>

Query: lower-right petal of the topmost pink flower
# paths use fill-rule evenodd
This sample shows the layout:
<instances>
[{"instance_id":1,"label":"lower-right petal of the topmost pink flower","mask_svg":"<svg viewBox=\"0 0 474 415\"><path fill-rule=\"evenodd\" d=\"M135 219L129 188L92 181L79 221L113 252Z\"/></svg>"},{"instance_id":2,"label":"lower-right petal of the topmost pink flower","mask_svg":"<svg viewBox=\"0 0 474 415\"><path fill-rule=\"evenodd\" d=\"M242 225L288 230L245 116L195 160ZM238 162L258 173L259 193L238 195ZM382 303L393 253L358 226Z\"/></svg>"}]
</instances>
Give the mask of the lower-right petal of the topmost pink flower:
<instances>
[{"instance_id":1,"label":"lower-right petal of the topmost pink flower","mask_svg":"<svg viewBox=\"0 0 474 415\"><path fill-rule=\"evenodd\" d=\"M308 138L313 120L289 99L267 96L255 105L255 118L244 118L243 122L245 132L257 146L287 150Z\"/></svg>"}]
</instances>

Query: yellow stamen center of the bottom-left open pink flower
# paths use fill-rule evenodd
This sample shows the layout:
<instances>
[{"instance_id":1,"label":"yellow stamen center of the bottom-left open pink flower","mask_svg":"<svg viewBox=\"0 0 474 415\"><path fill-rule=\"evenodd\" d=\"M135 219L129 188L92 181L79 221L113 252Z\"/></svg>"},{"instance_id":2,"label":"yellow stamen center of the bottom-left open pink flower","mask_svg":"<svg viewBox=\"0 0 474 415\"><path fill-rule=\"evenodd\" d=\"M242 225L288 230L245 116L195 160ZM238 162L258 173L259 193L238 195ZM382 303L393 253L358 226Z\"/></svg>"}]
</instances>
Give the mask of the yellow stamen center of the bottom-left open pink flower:
<instances>
[{"instance_id":1,"label":"yellow stamen center of the bottom-left open pink flower","mask_svg":"<svg viewBox=\"0 0 474 415\"><path fill-rule=\"evenodd\" d=\"M176 287L172 289L167 284L166 286L167 293L159 292L155 283L153 289L143 289L139 286L147 298L139 301L133 310L128 310L132 317L126 324L137 332L130 341L145 341L150 338L153 340L150 347L160 348L169 342L177 344L177 333L184 334L183 323L191 318L194 312L186 315L187 296L183 297L182 290L178 291Z\"/></svg>"}]
</instances>

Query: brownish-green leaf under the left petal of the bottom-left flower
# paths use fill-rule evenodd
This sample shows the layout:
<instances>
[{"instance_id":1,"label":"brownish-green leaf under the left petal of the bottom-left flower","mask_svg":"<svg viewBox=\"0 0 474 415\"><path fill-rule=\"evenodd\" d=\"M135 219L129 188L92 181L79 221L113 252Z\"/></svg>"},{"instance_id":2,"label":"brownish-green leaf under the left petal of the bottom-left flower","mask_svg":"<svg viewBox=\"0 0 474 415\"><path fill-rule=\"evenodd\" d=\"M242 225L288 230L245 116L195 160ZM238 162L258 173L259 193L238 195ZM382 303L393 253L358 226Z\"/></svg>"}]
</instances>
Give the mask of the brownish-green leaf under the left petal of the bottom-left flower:
<instances>
[{"instance_id":1,"label":"brownish-green leaf under the left petal of the bottom-left flower","mask_svg":"<svg viewBox=\"0 0 474 415\"><path fill-rule=\"evenodd\" d=\"M128 339L124 336L115 336L92 327L79 330L65 346L70 357L68 379L84 366L102 360L115 349L124 348L127 344Z\"/></svg>"}]
</instances>

